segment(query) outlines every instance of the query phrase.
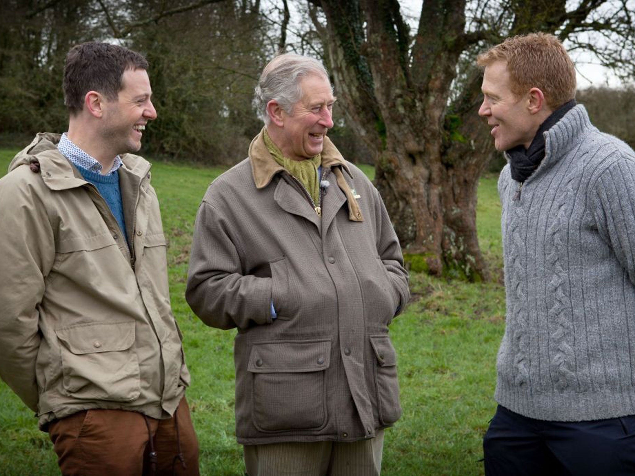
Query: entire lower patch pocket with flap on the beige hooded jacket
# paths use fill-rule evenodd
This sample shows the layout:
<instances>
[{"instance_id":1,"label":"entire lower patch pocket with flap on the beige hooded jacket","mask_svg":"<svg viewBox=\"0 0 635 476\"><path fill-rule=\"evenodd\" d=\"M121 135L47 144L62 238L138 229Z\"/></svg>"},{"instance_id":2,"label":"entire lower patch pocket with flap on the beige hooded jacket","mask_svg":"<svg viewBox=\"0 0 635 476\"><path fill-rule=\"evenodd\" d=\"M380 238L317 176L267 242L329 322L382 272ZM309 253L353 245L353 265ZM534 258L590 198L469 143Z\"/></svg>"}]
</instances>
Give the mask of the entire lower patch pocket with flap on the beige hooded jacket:
<instances>
[{"instance_id":1,"label":"entire lower patch pocket with flap on the beige hooded jacket","mask_svg":"<svg viewBox=\"0 0 635 476\"><path fill-rule=\"evenodd\" d=\"M130 401L139 396L134 322L97 322L56 329L64 389L77 399Z\"/></svg>"}]
</instances>

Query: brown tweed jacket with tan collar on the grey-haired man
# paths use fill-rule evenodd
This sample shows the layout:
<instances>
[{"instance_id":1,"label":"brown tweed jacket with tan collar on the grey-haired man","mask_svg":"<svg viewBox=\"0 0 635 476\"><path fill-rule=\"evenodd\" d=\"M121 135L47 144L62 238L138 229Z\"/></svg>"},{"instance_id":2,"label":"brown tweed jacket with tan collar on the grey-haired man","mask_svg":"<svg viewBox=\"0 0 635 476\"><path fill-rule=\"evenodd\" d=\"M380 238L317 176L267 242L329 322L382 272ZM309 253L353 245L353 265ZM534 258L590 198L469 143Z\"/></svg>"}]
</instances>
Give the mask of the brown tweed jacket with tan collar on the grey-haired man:
<instances>
[{"instance_id":1,"label":"brown tweed jacket with tan collar on the grey-haired man","mask_svg":"<svg viewBox=\"0 0 635 476\"><path fill-rule=\"evenodd\" d=\"M321 216L262 133L198 211L186 297L209 326L238 328L242 444L365 439L401 415L388 335L409 297L401 248L366 176L328 139L322 159Z\"/></svg>"}]
</instances>

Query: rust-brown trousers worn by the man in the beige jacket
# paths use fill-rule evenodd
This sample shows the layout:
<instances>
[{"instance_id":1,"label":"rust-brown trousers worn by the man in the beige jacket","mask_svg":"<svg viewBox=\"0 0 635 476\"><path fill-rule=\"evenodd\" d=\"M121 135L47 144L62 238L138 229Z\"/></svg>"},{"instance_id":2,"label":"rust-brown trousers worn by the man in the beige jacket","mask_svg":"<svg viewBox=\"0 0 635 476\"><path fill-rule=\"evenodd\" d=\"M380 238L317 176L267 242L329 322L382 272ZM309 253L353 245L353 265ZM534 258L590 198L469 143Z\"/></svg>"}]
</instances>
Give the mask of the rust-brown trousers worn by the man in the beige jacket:
<instances>
[{"instance_id":1,"label":"rust-brown trousers worn by the man in the beige jacket","mask_svg":"<svg viewBox=\"0 0 635 476\"><path fill-rule=\"evenodd\" d=\"M94 409L55 420L48 432L64 476L199 476L198 440L185 397L166 420L134 411ZM156 452L156 471L151 448ZM179 448L185 468L178 459Z\"/></svg>"}]
</instances>

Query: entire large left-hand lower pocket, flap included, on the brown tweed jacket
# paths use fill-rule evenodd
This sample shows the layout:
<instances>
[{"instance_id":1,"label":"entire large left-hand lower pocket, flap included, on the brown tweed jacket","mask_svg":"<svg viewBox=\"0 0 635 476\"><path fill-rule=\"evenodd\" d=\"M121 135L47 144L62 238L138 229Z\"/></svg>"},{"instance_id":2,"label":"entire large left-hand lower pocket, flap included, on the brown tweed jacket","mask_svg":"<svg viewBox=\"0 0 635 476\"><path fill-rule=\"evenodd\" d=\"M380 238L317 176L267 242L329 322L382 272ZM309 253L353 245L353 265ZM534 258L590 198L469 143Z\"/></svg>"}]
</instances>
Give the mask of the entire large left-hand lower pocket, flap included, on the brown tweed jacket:
<instances>
[{"instance_id":1,"label":"entire large left-hand lower pocket, flap included, on the brown tweed jacket","mask_svg":"<svg viewBox=\"0 0 635 476\"><path fill-rule=\"evenodd\" d=\"M261 432L319 430L326 425L326 369L331 342L276 341L253 345L251 416Z\"/></svg>"}]
</instances>

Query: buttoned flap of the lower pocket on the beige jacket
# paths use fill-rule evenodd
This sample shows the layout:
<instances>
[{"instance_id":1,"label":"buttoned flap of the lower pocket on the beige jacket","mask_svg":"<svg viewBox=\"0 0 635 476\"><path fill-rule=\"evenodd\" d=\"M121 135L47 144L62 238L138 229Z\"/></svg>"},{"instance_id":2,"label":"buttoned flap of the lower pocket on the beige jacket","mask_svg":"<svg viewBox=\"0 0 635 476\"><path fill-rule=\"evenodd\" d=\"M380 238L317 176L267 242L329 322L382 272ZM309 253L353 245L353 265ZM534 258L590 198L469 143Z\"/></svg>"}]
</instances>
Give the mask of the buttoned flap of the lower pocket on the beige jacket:
<instances>
[{"instance_id":1,"label":"buttoned flap of the lower pocket on the beige jacket","mask_svg":"<svg viewBox=\"0 0 635 476\"><path fill-rule=\"evenodd\" d=\"M98 322L56 329L57 338L73 354L126 350L135 342L134 322Z\"/></svg>"}]
</instances>

